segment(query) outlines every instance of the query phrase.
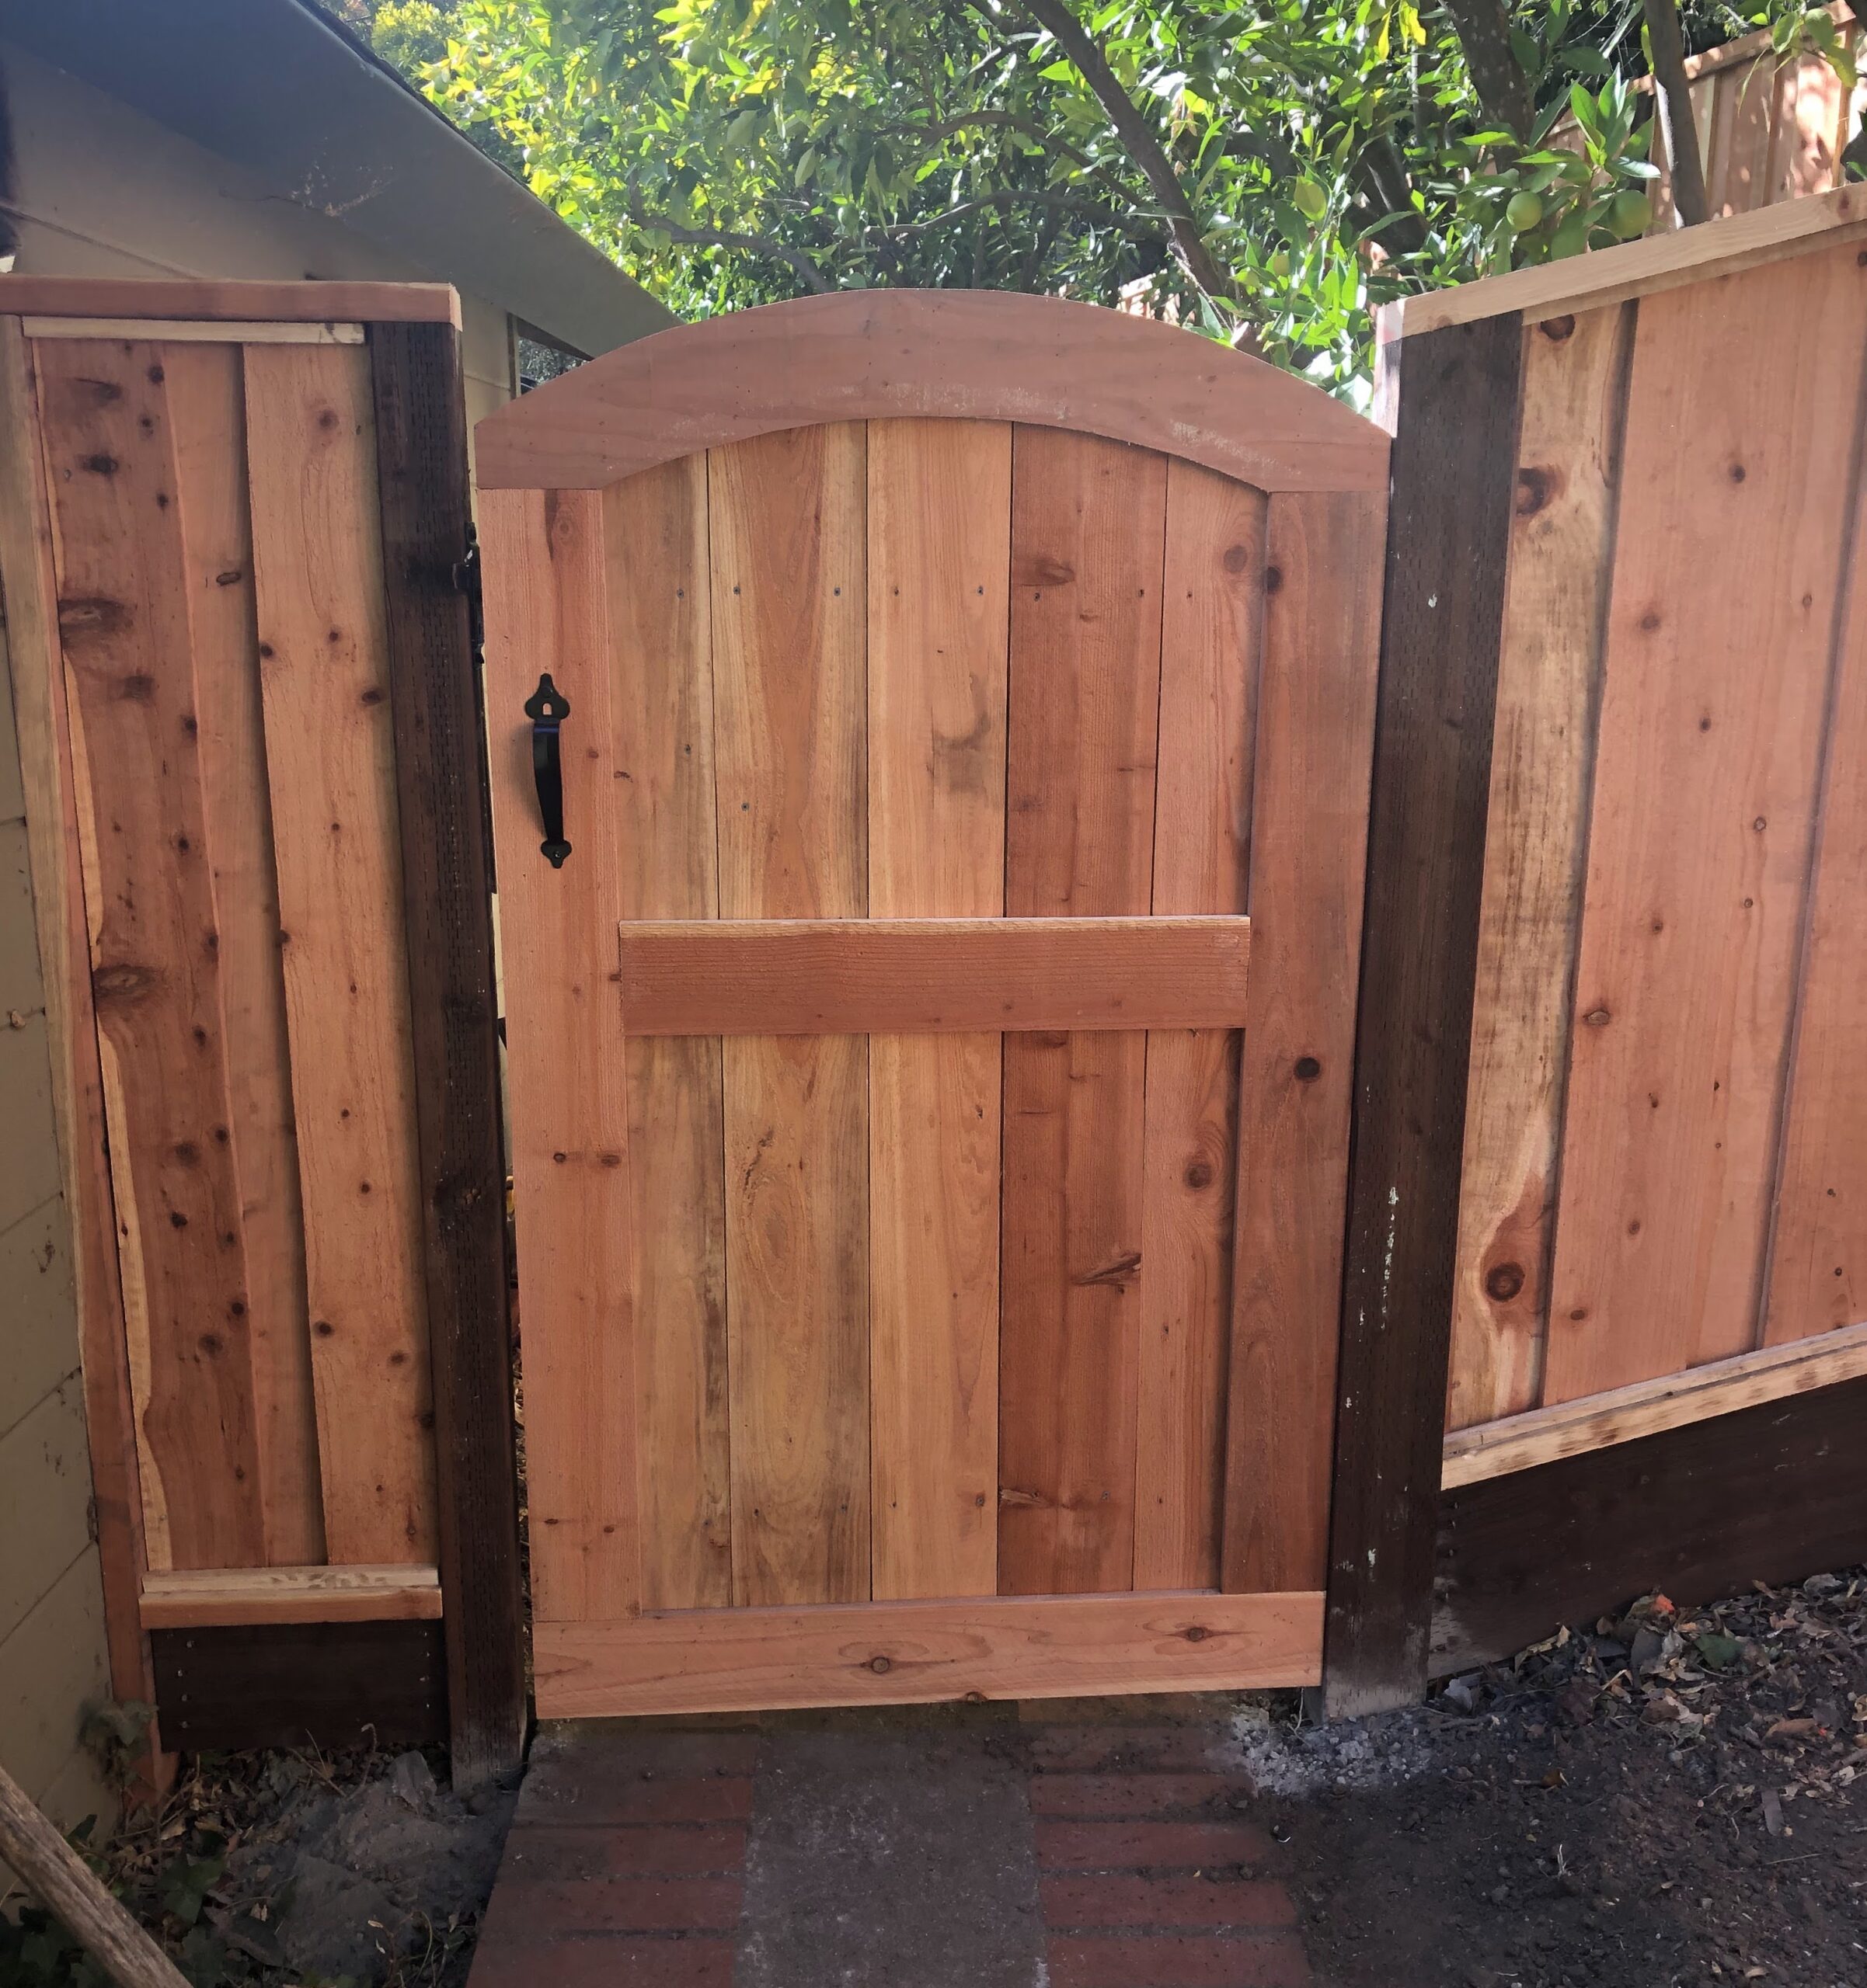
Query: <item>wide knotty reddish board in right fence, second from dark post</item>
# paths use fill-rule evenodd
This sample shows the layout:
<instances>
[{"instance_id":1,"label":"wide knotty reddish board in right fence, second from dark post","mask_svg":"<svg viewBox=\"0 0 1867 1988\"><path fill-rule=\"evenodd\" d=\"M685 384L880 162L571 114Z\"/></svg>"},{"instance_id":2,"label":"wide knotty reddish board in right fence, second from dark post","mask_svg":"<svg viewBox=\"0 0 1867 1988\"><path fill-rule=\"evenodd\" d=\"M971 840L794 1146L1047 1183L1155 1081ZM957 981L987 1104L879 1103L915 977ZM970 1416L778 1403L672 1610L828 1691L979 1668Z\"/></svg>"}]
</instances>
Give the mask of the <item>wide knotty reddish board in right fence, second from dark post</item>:
<instances>
[{"instance_id":1,"label":"wide knotty reddish board in right fence, second from dark post","mask_svg":"<svg viewBox=\"0 0 1867 1988\"><path fill-rule=\"evenodd\" d=\"M1545 1406L1758 1340L1863 314L1849 248L1640 310Z\"/></svg>"}]
</instances>

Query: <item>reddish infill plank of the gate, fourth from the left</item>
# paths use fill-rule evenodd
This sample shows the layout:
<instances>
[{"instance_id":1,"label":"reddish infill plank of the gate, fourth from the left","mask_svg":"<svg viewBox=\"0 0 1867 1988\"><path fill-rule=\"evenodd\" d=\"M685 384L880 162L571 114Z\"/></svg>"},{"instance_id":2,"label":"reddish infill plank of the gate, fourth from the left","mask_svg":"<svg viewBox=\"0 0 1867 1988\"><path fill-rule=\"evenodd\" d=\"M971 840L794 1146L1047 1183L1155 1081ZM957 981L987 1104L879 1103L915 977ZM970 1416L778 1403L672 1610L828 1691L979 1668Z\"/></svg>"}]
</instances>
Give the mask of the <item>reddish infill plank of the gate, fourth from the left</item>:
<instances>
[{"instance_id":1,"label":"reddish infill plank of the gate, fourth from the left","mask_svg":"<svg viewBox=\"0 0 1867 1988\"><path fill-rule=\"evenodd\" d=\"M1012 435L1006 912L1145 912L1165 457ZM1145 1048L1008 1036L1000 1594L1133 1586Z\"/></svg>"}]
</instances>

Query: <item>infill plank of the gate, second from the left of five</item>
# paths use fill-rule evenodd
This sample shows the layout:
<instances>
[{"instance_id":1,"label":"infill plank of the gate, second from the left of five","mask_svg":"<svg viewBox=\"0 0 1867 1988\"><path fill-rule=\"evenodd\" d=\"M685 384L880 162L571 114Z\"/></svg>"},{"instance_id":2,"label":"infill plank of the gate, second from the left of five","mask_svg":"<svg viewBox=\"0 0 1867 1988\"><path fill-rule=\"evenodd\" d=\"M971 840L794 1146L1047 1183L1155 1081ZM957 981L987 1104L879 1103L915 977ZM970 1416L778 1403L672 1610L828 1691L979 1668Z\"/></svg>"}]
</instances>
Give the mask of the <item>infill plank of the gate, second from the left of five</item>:
<instances>
[{"instance_id":1,"label":"infill plank of the gate, second from the left of five","mask_svg":"<svg viewBox=\"0 0 1867 1988\"><path fill-rule=\"evenodd\" d=\"M708 457L720 914L867 909L865 435ZM869 1044L724 1044L734 1600L865 1600Z\"/></svg>"}]
</instances>

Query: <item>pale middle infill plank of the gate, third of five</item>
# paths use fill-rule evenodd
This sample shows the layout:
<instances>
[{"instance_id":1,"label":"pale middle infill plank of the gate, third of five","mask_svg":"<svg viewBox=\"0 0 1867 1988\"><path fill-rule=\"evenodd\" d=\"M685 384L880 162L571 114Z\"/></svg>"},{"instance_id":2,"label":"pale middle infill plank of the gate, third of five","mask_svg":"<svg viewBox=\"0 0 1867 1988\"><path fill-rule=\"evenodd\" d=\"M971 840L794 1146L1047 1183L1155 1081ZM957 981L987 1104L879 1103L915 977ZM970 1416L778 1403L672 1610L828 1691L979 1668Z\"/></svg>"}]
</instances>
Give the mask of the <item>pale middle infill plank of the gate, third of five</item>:
<instances>
[{"instance_id":1,"label":"pale middle infill plank of the gate, third of five","mask_svg":"<svg viewBox=\"0 0 1867 1988\"><path fill-rule=\"evenodd\" d=\"M869 914L1004 911L1012 431L869 423ZM998 1588L998 1036L871 1036L875 1598Z\"/></svg>"}]
</instances>

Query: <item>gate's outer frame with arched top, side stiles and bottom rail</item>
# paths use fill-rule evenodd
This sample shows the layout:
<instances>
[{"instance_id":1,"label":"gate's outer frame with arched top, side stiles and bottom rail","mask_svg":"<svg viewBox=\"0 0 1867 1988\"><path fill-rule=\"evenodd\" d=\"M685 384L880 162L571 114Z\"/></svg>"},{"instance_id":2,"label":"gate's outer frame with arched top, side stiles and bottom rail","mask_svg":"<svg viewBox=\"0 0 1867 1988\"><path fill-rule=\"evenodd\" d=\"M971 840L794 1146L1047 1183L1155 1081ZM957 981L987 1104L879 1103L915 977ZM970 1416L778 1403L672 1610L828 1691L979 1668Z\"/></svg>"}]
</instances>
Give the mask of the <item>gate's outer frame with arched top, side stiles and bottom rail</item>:
<instances>
[{"instance_id":1,"label":"gate's outer frame with arched top, side stiles and bottom rail","mask_svg":"<svg viewBox=\"0 0 1867 1988\"><path fill-rule=\"evenodd\" d=\"M583 885L571 879L569 889L565 871L541 873L541 895L557 889L561 903L519 909L511 865L525 861L531 875L543 859L535 853L531 781L517 753L513 714L539 670L551 668L573 702L571 724L579 732L577 746L567 742L563 757L567 821L581 821L589 849L600 849L604 823L614 817L606 801L612 791L604 747L608 688L589 668L591 656L602 654L606 616L598 493L638 471L779 429L929 415L1074 429L1179 457L1267 493L1273 519L1278 513L1288 519L1290 559L1298 571L1318 577L1318 598L1330 608L1310 622L1292 620L1284 640L1292 658L1306 656L1312 642L1332 644L1334 674L1324 676L1330 692L1346 692L1352 700L1364 682L1366 708L1350 706L1340 724L1360 749L1370 749L1388 435L1306 382L1175 326L1004 292L839 292L652 334L477 425L487 696L499 700L491 747L495 831L507 879L501 920L515 1169L521 1173L519 1260L527 1282L537 1274L527 1274L529 1264L551 1262L549 1274L561 1284L561 1310L547 1312L531 1294L525 1308L533 1330L549 1316L553 1400L567 1390L563 1406L577 1423L563 1445L565 1455L557 1455L559 1435L547 1433L543 1402L529 1402L535 1600L551 1596L543 1608L535 1606L539 1710L547 1718L903 1702L966 1690L990 1696L1215 1690L1314 1682L1320 1672L1326 1431L1336 1398L1340 1252L1346 1246L1340 1227L1334 1246L1318 1248L1310 1241L1300 1252L1298 1302L1278 1314L1296 1322L1294 1336L1302 1344L1273 1346L1269 1362L1265 1348L1255 1348L1261 1356L1255 1372L1306 1396L1294 1406L1278 1404L1276 1419L1286 1419L1296 1437L1259 1431L1249 1443L1243 1417L1231 1417L1221 1517L1233 1543L1223 1549L1221 1588L809 1608L642 1608L636 1443L632 1427L616 1427L632 1415L620 1411L628 1398L616 1394L630 1386L634 1368L630 1298L614 1288L624 1252L614 1242L598 1246L583 1233L596 1207L612 1215L626 1209L626 1113L602 1099L602 1085L591 1081L598 1068L608 1068L606 1050L585 1058L563 1052L565 1020L593 1012L602 998L616 998L618 920L606 916L606 893L589 871ZM1330 529L1322 529L1324 521ZM1348 596L1346 604L1328 588L1340 579L1328 563L1338 543L1336 525L1340 545L1358 559L1354 571L1366 579L1364 586L1336 586L1336 594ZM523 690L515 696L521 680ZM1302 974L1318 970L1352 982L1360 956L1366 819L1354 815L1352 833L1344 831L1352 809L1340 805L1340 781L1304 779L1304 769L1318 769L1316 759L1304 757L1314 746L1304 726L1326 726L1334 718L1328 696L1318 708L1290 718L1292 763L1278 783L1280 791L1300 797L1296 821L1284 819L1280 831L1288 837L1286 891L1300 897L1312 877L1306 865L1316 861L1326 897L1326 914L1318 920L1326 938L1286 928L1298 986L1312 984ZM1261 755L1263 749L1261 736ZM1326 771L1328 761L1322 767ZM583 787L581 797L573 783ZM507 815L503 825L501 813ZM1322 849L1314 859L1312 839ZM1340 871L1328 869L1332 859ZM577 867L575 855L571 867ZM1352 873L1348 885L1344 871ZM1253 952L1261 936L1267 934L1253 932ZM571 952L553 958L555 978L563 982L559 1014L523 962L537 962L567 940ZM1344 954L1340 962L1328 956L1332 942ZM1257 976L1253 986L1259 986ZM1282 998L1288 1000L1288 990ZM1338 1207L1346 1197L1354 1008L1344 1002L1320 1024L1308 1016L1282 1020L1280 1030L1276 1000L1274 992L1265 996L1263 1020L1257 1000L1251 1002L1247 1040L1257 1032L1261 1054L1274 1064L1255 1077L1255 1125L1243 1093L1239 1121L1241 1147L1253 1125L1267 1133L1274 1155L1271 1165L1259 1165L1251 1187L1267 1205L1259 1233L1288 1235L1292 1225L1302 1227L1306 1209L1278 1205L1273 1179L1286 1179L1298 1167L1310 1177L1332 1167ZM521 1016L521 1008L539 1012ZM539 1054L533 1070L523 1040L541 1026L553 1046L549 1056ZM1300 1030L1326 1040L1304 1034L1298 1042ZM614 1036L614 1060L620 1062L620 1016ZM567 1076L573 1064L581 1083ZM567 1089L579 1095L567 1097ZM529 1149L531 1181L525 1179ZM1241 1209L1247 1171L1241 1151ZM571 1221L579 1209L581 1221ZM1304 1298L1308 1302L1300 1302ZM585 1320L565 1316L579 1306ZM1263 1306L1255 1330L1263 1334L1276 1318ZM1245 1330L1235 1310L1233 1346ZM1263 1419L1253 1417L1255 1423ZM1310 1439L1316 1451L1306 1473L1294 1455L1298 1437ZM581 1475L569 1467L573 1455L583 1463ZM561 1511L547 1503L547 1483ZM1253 1511L1255 1499L1288 1521L1300 1541L1288 1565L1267 1561L1261 1551L1263 1513ZM1257 1576L1249 1590L1241 1586L1241 1573ZM593 1608L593 1596L602 1606ZM1058 1634L1072 1616L1082 1624L1080 1642ZM702 1622L704 1638L696 1634ZM700 1664L682 1662L682 1638L704 1642ZM1048 1668L1034 1676L1034 1654L1044 1646L1050 1648L1040 1662ZM1308 1654L1298 1656L1304 1650ZM793 1660L797 1652L807 1658L801 1668ZM1125 1678L1119 1666L1143 1652L1145 1678ZM636 1696L622 1702L624 1690Z\"/></svg>"}]
</instances>

